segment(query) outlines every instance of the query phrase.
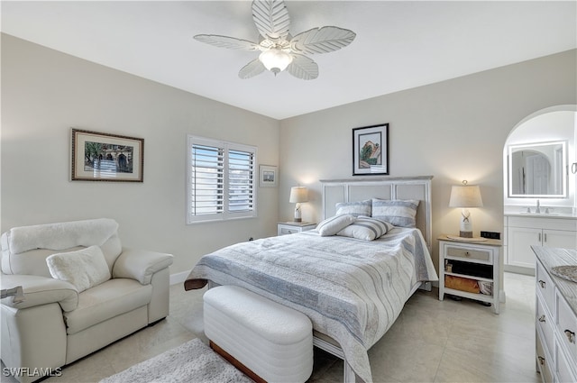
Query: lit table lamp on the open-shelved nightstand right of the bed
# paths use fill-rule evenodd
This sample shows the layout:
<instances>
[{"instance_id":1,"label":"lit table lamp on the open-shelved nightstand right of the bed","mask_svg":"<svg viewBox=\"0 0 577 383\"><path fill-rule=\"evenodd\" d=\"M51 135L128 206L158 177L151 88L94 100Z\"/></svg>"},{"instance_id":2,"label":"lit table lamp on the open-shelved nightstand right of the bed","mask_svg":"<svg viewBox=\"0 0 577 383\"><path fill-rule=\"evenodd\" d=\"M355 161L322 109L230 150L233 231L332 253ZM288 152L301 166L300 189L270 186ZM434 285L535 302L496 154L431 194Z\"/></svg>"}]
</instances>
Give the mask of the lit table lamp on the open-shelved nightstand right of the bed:
<instances>
[{"instance_id":1,"label":"lit table lamp on the open-shelved nightstand right of the bed","mask_svg":"<svg viewBox=\"0 0 577 383\"><path fill-rule=\"evenodd\" d=\"M477 185L467 185L467 181L463 181L463 186L453 186L451 188L451 198L449 200L449 207L461 207L461 221L459 223L459 236L447 235L453 240L463 241L482 241L481 238L473 238L472 236L472 217L469 212L469 207L482 207L483 201L481 199L481 189Z\"/></svg>"}]
</instances>

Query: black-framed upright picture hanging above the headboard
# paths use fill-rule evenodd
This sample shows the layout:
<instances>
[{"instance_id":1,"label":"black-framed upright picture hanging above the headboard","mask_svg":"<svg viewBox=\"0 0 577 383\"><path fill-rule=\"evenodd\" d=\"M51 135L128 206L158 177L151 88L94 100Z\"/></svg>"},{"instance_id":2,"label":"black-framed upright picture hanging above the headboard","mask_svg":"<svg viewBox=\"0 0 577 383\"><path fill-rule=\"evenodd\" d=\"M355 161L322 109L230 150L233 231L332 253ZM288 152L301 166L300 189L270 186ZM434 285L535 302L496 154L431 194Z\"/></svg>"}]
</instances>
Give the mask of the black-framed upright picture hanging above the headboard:
<instances>
[{"instance_id":1,"label":"black-framed upright picture hanging above the headboard","mask_svg":"<svg viewBox=\"0 0 577 383\"><path fill-rule=\"evenodd\" d=\"M353 129L353 176L389 174L389 123Z\"/></svg>"}]
</instances>

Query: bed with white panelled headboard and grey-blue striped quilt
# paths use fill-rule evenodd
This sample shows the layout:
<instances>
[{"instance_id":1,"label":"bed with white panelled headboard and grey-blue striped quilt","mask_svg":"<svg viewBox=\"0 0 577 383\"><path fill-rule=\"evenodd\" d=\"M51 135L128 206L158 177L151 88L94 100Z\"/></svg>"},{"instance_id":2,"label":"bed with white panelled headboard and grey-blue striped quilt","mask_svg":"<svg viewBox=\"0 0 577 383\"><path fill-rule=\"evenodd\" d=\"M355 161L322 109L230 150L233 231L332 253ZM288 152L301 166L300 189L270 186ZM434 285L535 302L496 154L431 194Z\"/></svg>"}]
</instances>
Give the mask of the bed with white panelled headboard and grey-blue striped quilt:
<instances>
[{"instance_id":1,"label":"bed with white panelled headboard and grey-blue striped quilt","mask_svg":"<svg viewBox=\"0 0 577 383\"><path fill-rule=\"evenodd\" d=\"M387 225L373 241L316 230L234 244L199 260L185 289L237 285L294 308L311 319L315 346L344 360L345 382L371 382L367 351L417 288L430 290L437 280L431 178L321 180L323 223L337 215L342 221L349 215L343 209L375 198L418 201L416 227ZM353 218L361 221L371 218Z\"/></svg>"}]
</instances>

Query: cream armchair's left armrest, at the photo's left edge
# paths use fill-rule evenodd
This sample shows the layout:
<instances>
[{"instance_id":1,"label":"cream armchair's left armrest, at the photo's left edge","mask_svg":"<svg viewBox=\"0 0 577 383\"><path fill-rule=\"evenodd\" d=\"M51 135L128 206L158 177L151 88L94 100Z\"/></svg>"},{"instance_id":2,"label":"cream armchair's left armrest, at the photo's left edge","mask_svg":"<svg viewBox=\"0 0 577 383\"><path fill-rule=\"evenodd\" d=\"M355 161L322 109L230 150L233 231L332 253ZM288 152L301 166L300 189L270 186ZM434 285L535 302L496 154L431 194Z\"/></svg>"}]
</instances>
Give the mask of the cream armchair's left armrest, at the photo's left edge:
<instances>
[{"instance_id":1,"label":"cream armchair's left armrest, at the photo's left edge","mask_svg":"<svg viewBox=\"0 0 577 383\"><path fill-rule=\"evenodd\" d=\"M22 286L24 299L14 302L11 297L2 299L2 305L14 308L26 308L35 305L58 303L62 310L68 312L78 306L78 291L70 284L60 279L46 278L35 275L7 275L0 279L2 289Z\"/></svg>"}]
</instances>

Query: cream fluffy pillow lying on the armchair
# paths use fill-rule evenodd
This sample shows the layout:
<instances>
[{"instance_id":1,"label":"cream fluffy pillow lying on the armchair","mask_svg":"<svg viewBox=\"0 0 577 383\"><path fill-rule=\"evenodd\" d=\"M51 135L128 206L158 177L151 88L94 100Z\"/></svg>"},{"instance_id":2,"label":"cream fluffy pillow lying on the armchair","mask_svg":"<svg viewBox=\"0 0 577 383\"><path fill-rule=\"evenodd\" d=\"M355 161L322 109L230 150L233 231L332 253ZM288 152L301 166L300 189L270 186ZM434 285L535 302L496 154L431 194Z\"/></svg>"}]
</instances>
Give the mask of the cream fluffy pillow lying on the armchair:
<instances>
[{"instance_id":1,"label":"cream fluffy pillow lying on the armchair","mask_svg":"<svg viewBox=\"0 0 577 383\"><path fill-rule=\"evenodd\" d=\"M98 246L52 254L46 263L52 278L71 283L78 293L110 279L105 255Z\"/></svg>"}]
</instances>

